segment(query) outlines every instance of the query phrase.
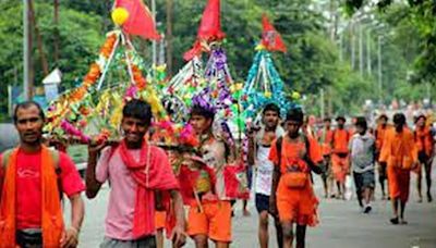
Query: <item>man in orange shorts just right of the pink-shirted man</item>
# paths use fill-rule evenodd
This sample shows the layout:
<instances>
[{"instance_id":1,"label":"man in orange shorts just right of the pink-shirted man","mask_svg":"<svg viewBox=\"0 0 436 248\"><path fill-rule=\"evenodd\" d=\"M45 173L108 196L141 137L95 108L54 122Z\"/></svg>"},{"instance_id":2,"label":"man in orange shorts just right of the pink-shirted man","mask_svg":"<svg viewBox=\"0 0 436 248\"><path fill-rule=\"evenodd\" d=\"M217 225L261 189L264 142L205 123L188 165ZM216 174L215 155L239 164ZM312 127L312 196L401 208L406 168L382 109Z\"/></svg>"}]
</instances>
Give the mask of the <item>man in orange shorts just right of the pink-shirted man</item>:
<instances>
[{"instance_id":1,"label":"man in orange shorts just right of the pink-shirted man","mask_svg":"<svg viewBox=\"0 0 436 248\"><path fill-rule=\"evenodd\" d=\"M208 189L198 191L197 204L189 210L187 234L196 247L207 247L208 239L216 247L229 247L231 243L232 207L226 195L223 173L226 164L231 162L232 151L222 137L214 134L215 112L215 107L203 100L198 100L191 109L190 123L199 140L197 150L216 177L213 193Z\"/></svg>"}]
</instances>

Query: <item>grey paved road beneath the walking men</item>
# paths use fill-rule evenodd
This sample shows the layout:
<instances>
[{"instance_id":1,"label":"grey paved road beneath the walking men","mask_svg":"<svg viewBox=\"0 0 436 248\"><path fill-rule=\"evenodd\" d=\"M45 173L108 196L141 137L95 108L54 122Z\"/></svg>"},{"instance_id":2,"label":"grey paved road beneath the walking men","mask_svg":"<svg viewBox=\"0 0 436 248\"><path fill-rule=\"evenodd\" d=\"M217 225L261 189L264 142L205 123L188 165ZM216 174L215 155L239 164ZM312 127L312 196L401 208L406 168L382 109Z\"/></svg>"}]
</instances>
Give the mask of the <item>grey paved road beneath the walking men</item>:
<instances>
[{"instance_id":1,"label":"grey paved road beneath the walking men","mask_svg":"<svg viewBox=\"0 0 436 248\"><path fill-rule=\"evenodd\" d=\"M435 170L434 170L435 171ZM412 177L414 186L415 177ZM436 179L436 173L433 178ZM315 182L318 196L322 195L320 182ZM378 193L377 188L377 193ZM384 247L384 248L435 248L436 247L436 202L417 203L414 187L411 187L411 199L407 209L408 225L389 224L390 204L377 200L370 215L360 212L355 200L342 201L320 199L320 224L307 232L307 247ZM434 188L433 195L436 196ZM98 247L104 237L104 219L108 188L104 188L97 199L86 200L86 218L81 236L81 247ZM377 199L379 197L377 196ZM257 246L257 215L251 202L251 218L241 216L240 206L233 220L232 247ZM272 222L271 222L272 223ZM276 247L272 227L270 228L270 247ZM167 244L168 245L168 244ZM168 245L168 247L170 247ZM193 247L190 241L186 247Z\"/></svg>"}]
</instances>

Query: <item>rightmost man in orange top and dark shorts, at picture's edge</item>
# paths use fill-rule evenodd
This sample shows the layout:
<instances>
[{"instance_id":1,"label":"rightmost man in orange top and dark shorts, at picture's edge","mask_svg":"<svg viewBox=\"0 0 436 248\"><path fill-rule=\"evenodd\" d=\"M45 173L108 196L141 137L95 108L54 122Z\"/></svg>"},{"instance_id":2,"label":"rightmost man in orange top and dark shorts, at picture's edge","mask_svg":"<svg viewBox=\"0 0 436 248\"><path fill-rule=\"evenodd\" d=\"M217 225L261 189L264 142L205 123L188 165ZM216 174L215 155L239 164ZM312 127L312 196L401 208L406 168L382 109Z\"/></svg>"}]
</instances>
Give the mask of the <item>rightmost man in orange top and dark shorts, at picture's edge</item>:
<instances>
[{"instance_id":1,"label":"rightmost man in orange top and dark shorts, at picture's edge","mask_svg":"<svg viewBox=\"0 0 436 248\"><path fill-rule=\"evenodd\" d=\"M417 159L420 165L414 172L417 174L416 188L419 202L422 202L422 169L425 171L425 183L427 185L427 201L432 202L432 163L434 157L434 139L431 128L426 125L427 117L421 114L415 121L414 138L417 149Z\"/></svg>"}]
</instances>

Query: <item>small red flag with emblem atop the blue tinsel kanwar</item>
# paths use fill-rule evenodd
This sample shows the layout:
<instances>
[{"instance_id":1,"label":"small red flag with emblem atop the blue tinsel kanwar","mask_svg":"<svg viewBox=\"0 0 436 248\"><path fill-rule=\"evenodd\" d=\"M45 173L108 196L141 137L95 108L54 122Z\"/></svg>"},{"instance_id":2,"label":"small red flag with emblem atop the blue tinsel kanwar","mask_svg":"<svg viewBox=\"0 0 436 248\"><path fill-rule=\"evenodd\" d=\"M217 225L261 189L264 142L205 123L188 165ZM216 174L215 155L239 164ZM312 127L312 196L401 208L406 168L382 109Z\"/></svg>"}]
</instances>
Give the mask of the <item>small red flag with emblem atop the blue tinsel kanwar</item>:
<instances>
[{"instance_id":1,"label":"small red flag with emblem atop the blue tinsel kanwar","mask_svg":"<svg viewBox=\"0 0 436 248\"><path fill-rule=\"evenodd\" d=\"M276 30L265 14L262 15L262 25L264 26L264 30L262 32L262 45L264 45L269 51L287 52L287 48L280 34Z\"/></svg>"}]
</instances>

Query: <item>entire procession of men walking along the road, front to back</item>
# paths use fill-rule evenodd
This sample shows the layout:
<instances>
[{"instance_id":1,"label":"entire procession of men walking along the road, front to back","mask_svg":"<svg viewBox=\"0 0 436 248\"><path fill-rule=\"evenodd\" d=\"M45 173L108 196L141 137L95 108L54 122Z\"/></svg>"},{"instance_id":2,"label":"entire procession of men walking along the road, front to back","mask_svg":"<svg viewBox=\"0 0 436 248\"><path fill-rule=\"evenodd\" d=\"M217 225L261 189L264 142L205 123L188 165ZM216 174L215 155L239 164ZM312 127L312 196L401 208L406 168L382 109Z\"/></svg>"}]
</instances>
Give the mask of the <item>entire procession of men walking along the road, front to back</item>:
<instances>
[{"instance_id":1,"label":"entire procession of men walking along the road, front to back","mask_svg":"<svg viewBox=\"0 0 436 248\"><path fill-rule=\"evenodd\" d=\"M313 117L305 119L300 108L280 116L274 103L261 115L261 127L247 126L246 133L261 247L268 247L270 215L278 247L292 247L294 240L296 247L305 247L306 227L318 224L313 173L322 176L325 197L339 199L352 176L359 204L370 213L378 166L384 198L388 181L392 224L407 223L412 171L419 176L419 200L422 171L427 200L433 200L434 139L424 115L416 117L414 131L401 113L393 116L393 126L382 115L375 132L364 117L356 117L350 131L343 116L336 119L336 128L326 119L316 131ZM14 123L21 142L0 158L0 248L76 247L85 214L81 193L94 199L105 183L110 194L100 247L162 247L162 230L173 247L183 246L187 236L196 247L208 247L209 240L229 247L232 198L226 176L239 159L228 139L214 132L215 110L194 104L190 128L195 138L181 137L169 151L149 141L152 119L145 101L126 102L122 139L90 141L84 184L69 156L45 145L41 108L33 101L17 104ZM62 213L64 195L72 209L69 226Z\"/></svg>"}]
</instances>

